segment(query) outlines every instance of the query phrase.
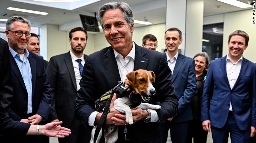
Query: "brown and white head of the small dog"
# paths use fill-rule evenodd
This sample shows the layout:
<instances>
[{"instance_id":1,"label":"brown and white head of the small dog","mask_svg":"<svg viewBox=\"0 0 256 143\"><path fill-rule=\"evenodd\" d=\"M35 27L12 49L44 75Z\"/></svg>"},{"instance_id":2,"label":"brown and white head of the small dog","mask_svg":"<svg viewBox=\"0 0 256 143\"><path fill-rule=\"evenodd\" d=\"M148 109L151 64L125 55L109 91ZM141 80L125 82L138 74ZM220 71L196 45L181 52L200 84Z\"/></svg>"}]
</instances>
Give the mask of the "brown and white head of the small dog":
<instances>
[{"instance_id":1,"label":"brown and white head of the small dog","mask_svg":"<svg viewBox=\"0 0 256 143\"><path fill-rule=\"evenodd\" d=\"M145 102L150 100L150 95L156 93L152 83L155 82L155 73L153 71L137 70L126 75L125 83L136 90Z\"/></svg>"}]
</instances>

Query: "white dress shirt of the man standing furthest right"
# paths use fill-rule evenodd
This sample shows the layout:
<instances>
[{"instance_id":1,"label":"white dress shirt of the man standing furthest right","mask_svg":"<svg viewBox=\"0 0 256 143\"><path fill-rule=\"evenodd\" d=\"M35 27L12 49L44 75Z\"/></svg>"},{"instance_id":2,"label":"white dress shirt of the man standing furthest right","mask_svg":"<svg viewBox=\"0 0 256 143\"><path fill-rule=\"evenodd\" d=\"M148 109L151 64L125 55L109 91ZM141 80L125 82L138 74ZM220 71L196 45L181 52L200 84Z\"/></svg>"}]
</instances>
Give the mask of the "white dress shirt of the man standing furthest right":
<instances>
[{"instance_id":1,"label":"white dress shirt of the man standing furthest right","mask_svg":"<svg viewBox=\"0 0 256 143\"><path fill-rule=\"evenodd\" d=\"M242 66L242 61L243 61L243 56L241 56L241 58L233 63L231 61L231 59L229 58L229 56L227 55L226 58L226 72L227 72L227 79L230 85L230 88L232 89L236 83L236 80L238 78L238 75L240 73L241 70L241 66ZM232 105L230 102L230 107L229 107L229 111L232 111Z\"/></svg>"}]
</instances>

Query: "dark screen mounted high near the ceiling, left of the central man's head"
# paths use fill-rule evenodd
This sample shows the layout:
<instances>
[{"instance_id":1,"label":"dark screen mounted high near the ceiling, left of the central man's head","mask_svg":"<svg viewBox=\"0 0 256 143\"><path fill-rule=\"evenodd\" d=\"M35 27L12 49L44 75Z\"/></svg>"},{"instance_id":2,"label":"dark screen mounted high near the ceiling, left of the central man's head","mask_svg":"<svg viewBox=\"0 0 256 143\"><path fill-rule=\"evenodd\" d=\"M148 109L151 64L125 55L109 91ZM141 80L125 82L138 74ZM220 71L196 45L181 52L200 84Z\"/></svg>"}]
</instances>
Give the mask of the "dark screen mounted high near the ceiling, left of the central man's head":
<instances>
[{"instance_id":1,"label":"dark screen mounted high near the ceiling, left of the central man's head","mask_svg":"<svg viewBox=\"0 0 256 143\"><path fill-rule=\"evenodd\" d=\"M79 14L83 27L86 31L99 32L99 26L96 17Z\"/></svg>"}]
</instances>

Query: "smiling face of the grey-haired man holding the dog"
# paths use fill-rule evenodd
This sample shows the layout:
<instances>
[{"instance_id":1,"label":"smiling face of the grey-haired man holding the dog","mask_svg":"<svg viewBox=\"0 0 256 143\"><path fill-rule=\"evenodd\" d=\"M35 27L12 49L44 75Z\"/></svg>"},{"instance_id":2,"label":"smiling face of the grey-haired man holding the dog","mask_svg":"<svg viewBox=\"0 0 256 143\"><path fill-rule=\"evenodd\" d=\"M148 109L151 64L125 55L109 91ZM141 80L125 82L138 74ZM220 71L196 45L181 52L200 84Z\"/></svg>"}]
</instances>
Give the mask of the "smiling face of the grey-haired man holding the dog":
<instances>
[{"instance_id":1,"label":"smiling face of the grey-haired man holding the dog","mask_svg":"<svg viewBox=\"0 0 256 143\"><path fill-rule=\"evenodd\" d=\"M107 10L103 17L103 28L106 40L116 51L131 48L132 33L134 24L131 26L123 18L123 12L120 9Z\"/></svg>"}]
</instances>

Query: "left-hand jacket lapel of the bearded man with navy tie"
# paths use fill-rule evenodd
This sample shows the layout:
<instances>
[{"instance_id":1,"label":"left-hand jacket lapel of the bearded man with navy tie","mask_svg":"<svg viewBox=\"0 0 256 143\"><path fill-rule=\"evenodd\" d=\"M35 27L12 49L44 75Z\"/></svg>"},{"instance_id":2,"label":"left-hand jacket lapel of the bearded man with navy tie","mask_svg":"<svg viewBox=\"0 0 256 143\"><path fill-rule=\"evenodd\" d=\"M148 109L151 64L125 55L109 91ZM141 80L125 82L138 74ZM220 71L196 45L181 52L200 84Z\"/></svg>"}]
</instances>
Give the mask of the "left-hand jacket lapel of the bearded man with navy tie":
<instances>
[{"instance_id":1,"label":"left-hand jacket lapel of the bearded man with navy tie","mask_svg":"<svg viewBox=\"0 0 256 143\"><path fill-rule=\"evenodd\" d=\"M72 63L70 52L65 54L64 60L65 60L66 66L68 68L69 75L71 77L72 83L75 87L75 90L77 91L76 81L75 81L75 71L74 71L74 66L73 66L73 63Z\"/></svg>"}]
</instances>

